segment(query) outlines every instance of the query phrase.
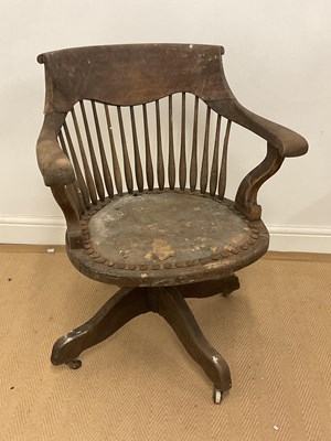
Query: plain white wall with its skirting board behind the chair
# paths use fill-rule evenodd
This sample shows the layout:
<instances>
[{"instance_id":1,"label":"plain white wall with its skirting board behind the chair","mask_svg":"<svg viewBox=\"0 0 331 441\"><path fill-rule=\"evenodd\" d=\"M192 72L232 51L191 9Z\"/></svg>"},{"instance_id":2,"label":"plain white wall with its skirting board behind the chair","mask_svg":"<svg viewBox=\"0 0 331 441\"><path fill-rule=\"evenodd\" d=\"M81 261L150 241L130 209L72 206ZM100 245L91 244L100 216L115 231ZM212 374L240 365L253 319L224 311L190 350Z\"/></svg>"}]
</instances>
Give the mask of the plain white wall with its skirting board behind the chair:
<instances>
[{"instance_id":1,"label":"plain white wall with its skirting board behind the chair","mask_svg":"<svg viewBox=\"0 0 331 441\"><path fill-rule=\"evenodd\" d=\"M0 243L63 241L60 209L36 168L39 53L82 45L183 42L225 46L224 66L249 109L303 135L259 193L273 249L331 252L331 2L328 0L1 1ZM260 158L255 138L245 150Z\"/></svg>"}]
</instances>

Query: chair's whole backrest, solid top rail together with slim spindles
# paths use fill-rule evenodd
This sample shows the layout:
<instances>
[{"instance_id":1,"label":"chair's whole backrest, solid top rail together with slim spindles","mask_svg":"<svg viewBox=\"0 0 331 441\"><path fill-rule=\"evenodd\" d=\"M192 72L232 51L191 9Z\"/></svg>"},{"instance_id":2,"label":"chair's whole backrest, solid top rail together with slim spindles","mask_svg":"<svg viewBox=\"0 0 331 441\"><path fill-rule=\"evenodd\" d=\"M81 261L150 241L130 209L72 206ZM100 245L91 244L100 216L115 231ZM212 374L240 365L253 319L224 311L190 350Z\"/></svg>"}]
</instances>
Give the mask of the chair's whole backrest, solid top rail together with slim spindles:
<instances>
[{"instance_id":1,"label":"chair's whole backrest, solid top rail together with slim spindles","mask_svg":"<svg viewBox=\"0 0 331 441\"><path fill-rule=\"evenodd\" d=\"M68 191L81 213L145 189L224 197L231 121L205 103L233 97L223 53L222 46L141 44L39 56L45 114L66 115L58 143L75 170Z\"/></svg>"}]
</instances>

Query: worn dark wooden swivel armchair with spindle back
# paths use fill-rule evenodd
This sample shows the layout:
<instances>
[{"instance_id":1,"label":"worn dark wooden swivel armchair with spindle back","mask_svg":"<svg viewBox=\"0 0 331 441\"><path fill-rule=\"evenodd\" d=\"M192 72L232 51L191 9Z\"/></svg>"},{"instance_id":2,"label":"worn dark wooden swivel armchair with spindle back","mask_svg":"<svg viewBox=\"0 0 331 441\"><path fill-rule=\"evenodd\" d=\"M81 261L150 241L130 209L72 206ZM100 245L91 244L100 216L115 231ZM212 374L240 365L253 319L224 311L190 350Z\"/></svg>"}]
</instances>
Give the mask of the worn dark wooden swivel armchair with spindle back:
<instances>
[{"instance_id":1,"label":"worn dark wooden swivel armchair with spindle back","mask_svg":"<svg viewBox=\"0 0 331 441\"><path fill-rule=\"evenodd\" d=\"M228 365L184 298L239 287L235 271L268 248L257 192L308 146L236 100L223 54L213 45L132 44L38 57L46 83L38 161L66 219L67 255L87 277L120 288L57 340L54 365L79 367L83 351L152 311L212 380L215 402L231 388ZM234 123L266 140L267 153L231 201Z\"/></svg>"}]
</instances>

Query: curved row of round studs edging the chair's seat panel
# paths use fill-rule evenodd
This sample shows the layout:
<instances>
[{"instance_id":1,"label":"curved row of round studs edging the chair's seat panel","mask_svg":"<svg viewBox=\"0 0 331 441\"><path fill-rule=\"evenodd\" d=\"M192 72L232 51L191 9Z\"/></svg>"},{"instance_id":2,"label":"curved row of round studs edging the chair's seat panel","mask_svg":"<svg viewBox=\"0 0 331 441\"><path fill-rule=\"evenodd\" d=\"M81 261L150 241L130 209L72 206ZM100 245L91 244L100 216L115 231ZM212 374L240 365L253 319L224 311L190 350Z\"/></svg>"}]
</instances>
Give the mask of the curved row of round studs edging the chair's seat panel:
<instances>
[{"instance_id":1,"label":"curved row of round studs edging the chair's seat panel","mask_svg":"<svg viewBox=\"0 0 331 441\"><path fill-rule=\"evenodd\" d=\"M105 207L108 204L108 201L105 202L98 202L97 205L93 206L83 217L81 220L81 226L82 226L82 232L83 232L83 244L84 248L86 249L86 254L97 261L98 263L106 265L108 267L114 267L116 269L128 269L128 270L140 270L140 271L147 271L147 270L160 270L160 269L173 269L173 268L184 268L184 267L194 267L197 265L206 265L212 261L225 259L232 255L238 255L239 252L248 250L258 239L260 229L259 225L256 223L252 223L248 220L245 215L243 215L242 212L236 209L233 205L233 202L229 201L220 201L215 200L222 205L225 205L228 209L231 209L233 213L235 213L237 216L239 216L244 223L249 227L250 229L250 238L243 244L241 247L233 247L229 248L228 250L223 250L220 252L215 252L210 257L203 257L200 259L195 260L186 260L182 262L164 262L164 263L141 263L141 265L136 265L136 263L125 263L125 262L114 262L111 260L106 259L103 257L100 254L95 251L93 249L92 243L90 243L90 236L89 236L89 230L88 230L88 222L89 219L103 207Z\"/></svg>"}]
</instances>

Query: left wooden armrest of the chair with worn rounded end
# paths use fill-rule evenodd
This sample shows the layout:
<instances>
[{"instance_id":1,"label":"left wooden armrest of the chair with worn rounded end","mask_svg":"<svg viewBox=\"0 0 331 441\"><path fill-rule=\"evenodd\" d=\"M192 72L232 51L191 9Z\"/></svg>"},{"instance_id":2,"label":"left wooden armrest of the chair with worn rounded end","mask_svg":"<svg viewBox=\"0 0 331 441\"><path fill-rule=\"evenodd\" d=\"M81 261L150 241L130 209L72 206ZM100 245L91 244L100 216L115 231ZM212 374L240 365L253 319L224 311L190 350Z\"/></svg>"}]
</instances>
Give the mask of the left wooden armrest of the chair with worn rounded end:
<instances>
[{"instance_id":1,"label":"left wooden armrest of the chair with worn rounded end","mask_svg":"<svg viewBox=\"0 0 331 441\"><path fill-rule=\"evenodd\" d=\"M36 142L36 158L46 186L68 185L75 181L74 169L60 148L56 137L64 114L49 114Z\"/></svg>"}]
</instances>

